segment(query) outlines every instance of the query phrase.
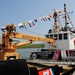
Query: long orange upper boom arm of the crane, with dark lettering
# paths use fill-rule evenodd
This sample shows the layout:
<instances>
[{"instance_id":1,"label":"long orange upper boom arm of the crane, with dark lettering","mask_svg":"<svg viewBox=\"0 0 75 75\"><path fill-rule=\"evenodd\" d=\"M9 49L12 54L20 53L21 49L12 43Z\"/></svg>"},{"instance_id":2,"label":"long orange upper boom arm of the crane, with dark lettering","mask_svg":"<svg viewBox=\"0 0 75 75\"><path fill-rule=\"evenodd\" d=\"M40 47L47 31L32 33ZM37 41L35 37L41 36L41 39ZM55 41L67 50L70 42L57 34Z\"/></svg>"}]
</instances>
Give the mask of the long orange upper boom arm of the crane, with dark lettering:
<instances>
[{"instance_id":1,"label":"long orange upper boom arm of the crane, with dark lettering","mask_svg":"<svg viewBox=\"0 0 75 75\"><path fill-rule=\"evenodd\" d=\"M18 38L18 39L25 39L25 40L29 40L29 41L41 41L41 42L48 42L51 43L52 45L54 45L54 39L53 38L44 38L44 37L40 37L40 36L32 36L29 34L22 34L22 33L11 33L9 34L10 38Z\"/></svg>"}]
</instances>

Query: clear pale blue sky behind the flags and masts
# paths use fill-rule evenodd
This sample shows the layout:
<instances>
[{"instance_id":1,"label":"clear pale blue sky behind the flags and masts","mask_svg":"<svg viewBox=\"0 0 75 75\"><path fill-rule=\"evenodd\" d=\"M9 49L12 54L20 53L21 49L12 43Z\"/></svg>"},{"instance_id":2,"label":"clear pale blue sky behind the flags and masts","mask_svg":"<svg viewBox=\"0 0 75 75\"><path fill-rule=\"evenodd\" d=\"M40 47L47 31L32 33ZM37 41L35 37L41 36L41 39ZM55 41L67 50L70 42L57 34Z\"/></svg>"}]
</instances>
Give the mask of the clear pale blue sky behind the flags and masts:
<instances>
[{"instance_id":1,"label":"clear pale blue sky behind the flags and masts","mask_svg":"<svg viewBox=\"0 0 75 75\"><path fill-rule=\"evenodd\" d=\"M66 3L67 11L73 11L70 16L74 25L75 0L0 0L0 27L13 23L16 24L18 32L45 35L52 28L53 19L46 22L38 21L33 27L27 24L27 29L18 28L18 24L53 14L53 9L60 10L64 3ZM2 31L0 35L1 33Z\"/></svg>"}]
</instances>

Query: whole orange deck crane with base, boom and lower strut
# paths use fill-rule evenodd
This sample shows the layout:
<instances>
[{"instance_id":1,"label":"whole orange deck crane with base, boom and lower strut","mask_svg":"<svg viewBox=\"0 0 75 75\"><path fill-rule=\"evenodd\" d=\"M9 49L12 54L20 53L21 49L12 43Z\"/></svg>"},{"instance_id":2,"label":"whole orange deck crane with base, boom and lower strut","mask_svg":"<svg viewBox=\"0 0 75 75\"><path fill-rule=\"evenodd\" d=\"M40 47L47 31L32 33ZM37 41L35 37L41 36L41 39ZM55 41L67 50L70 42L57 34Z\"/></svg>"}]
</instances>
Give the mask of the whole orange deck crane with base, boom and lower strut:
<instances>
[{"instance_id":1,"label":"whole orange deck crane with base, boom and lower strut","mask_svg":"<svg viewBox=\"0 0 75 75\"><path fill-rule=\"evenodd\" d=\"M27 42L14 43L13 38L28 40ZM34 41L48 42L54 45L54 38L43 38L16 32L14 24L8 24L6 31L2 34L2 43L0 44L0 60L19 59L19 54L15 51L18 46L30 44Z\"/></svg>"}]
</instances>

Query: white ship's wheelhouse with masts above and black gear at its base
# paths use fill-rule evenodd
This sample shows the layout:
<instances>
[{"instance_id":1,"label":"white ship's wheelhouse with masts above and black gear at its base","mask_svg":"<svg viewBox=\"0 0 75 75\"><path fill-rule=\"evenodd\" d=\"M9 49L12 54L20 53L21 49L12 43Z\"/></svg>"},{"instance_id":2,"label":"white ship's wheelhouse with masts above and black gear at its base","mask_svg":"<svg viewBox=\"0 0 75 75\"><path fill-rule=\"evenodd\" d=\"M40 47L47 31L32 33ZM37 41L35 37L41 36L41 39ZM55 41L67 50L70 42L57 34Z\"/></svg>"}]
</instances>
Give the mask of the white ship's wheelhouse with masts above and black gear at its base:
<instances>
[{"instance_id":1,"label":"white ship's wheelhouse with masts above and black gear at its base","mask_svg":"<svg viewBox=\"0 0 75 75\"><path fill-rule=\"evenodd\" d=\"M72 13L72 12L71 12ZM45 43L45 48L41 51L31 52L30 59L50 59L54 61L75 61L75 29L72 22L68 23L69 14L66 11L66 4L64 4L64 21L63 26L60 23L59 17L61 16L54 10L53 18L54 25L52 29L48 30L45 34L46 38L54 38L55 45Z\"/></svg>"}]
</instances>

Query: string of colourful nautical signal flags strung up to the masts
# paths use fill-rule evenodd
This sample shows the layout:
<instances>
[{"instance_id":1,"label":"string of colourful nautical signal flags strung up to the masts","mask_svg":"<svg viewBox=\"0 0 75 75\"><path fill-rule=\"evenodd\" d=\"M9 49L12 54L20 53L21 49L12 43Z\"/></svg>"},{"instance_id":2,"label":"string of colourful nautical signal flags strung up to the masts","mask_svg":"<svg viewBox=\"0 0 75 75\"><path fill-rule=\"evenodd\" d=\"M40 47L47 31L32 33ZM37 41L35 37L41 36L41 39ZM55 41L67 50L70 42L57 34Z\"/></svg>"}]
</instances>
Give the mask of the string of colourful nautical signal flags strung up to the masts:
<instances>
[{"instance_id":1,"label":"string of colourful nautical signal flags strung up to the masts","mask_svg":"<svg viewBox=\"0 0 75 75\"><path fill-rule=\"evenodd\" d=\"M59 15L60 15L60 14L63 15L63 10L56 10L56 12L57 12ZM46 16L43 16L43 17L40 17L40 18L37 18L37 19L34 19L34 20L30 20L30 21L27 21L27 22L18 23L17 25L18 25L18 27L19 27L20 29L22 29L22 28L27 29L27 24L28 24L30 27L33 27L33 26L35 26L35 24L38 22L38 20L46 22L46 21L51 21L52 18L53 18L53 14L49 14L49 15L46 15ZM73 24L72 24L72 21L71 21L71 19L70 19L70 17L69 17L69 15L68 15L68 20L69 20L70 24L73 25ZM4 28L4 27L3 27L3 28L0 28L0 29L1 29L3 32L5 31L5 28Z\"/></svg>"}]
</instances>

